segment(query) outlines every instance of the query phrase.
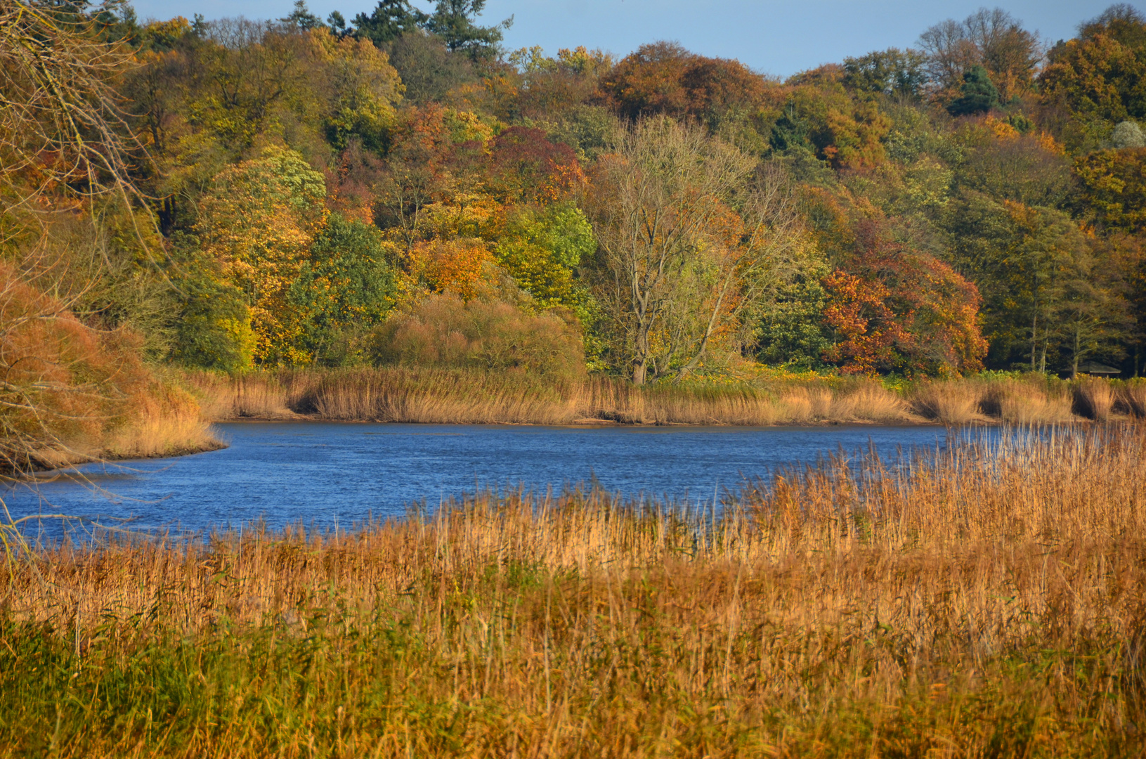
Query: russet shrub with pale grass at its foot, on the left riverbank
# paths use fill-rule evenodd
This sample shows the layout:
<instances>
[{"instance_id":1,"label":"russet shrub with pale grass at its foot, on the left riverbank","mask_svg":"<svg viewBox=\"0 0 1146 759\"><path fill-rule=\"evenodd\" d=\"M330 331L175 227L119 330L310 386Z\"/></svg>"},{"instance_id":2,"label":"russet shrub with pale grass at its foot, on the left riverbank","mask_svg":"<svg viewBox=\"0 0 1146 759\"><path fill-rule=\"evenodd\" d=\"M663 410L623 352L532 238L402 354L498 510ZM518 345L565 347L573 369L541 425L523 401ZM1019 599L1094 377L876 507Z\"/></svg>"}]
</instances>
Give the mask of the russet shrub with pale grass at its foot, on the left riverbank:
<instances>
[{"instance_id":1,"label":"russet shrub with pale grass at its foot, on the left riverbank","mask_svg":"<svg viewBox=\"0 0 1146 759\"><path fill-rule=\"evenodd\" d=\"M140 342L85 324L0 263L0 475L214 445L193 397L143 365Z\"/></svg>"}]
</instances>

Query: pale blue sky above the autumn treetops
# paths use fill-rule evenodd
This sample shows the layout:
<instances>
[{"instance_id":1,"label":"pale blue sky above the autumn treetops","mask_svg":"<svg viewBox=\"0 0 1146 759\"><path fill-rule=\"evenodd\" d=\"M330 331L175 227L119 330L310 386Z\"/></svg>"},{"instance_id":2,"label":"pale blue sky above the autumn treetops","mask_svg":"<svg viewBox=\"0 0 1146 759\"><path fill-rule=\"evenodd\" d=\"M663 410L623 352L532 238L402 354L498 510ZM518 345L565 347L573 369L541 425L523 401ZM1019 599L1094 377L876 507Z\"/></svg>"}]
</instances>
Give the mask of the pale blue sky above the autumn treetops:
<instances>
[{"instance_id":1,"label":"pale blue sky above the autumn treetops","mask_svg":"<svg viewBox=\"0 0 1146 759\"><path fill-rule=\"evenodd\" d=\"M1053 42L1074 36L1112 0L1014 0L998 3L1027 29ZM293 0L135 0L143 18L246 16L275 18ZM350 18L375 0L309 0L325 17L340 10ZM432 2L416 1L429 9ZM981 1L948 0L488 0L485 23L513 16L509 48L540 45L550 54L584 45L625 55L643 42L676 40L702 55L739 58L766 73L787 76L821 63L887 47L909 47L919 33L944 18L964 18ZM1144 8L1144 2L1131 5Z\"/></svg>"}]
</instances>

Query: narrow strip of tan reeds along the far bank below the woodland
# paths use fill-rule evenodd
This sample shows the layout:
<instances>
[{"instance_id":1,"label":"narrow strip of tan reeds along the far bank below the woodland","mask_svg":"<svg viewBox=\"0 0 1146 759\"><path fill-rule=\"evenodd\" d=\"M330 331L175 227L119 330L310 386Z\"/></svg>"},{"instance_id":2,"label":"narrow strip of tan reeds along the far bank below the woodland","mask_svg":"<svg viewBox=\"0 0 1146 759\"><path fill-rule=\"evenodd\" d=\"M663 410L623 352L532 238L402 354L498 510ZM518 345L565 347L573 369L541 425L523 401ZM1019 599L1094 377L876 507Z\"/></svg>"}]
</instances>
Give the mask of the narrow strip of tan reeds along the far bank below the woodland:
<instances>
[{"instance_id":1,"label":"narrow strip of tan reeds along the far bank below the woodland","mask_svg":"<svg viewBox=\"0 0 1146 759\"><path fill-rule=\"evenodd\" d=\"M204 415L234 418L574 424L1057 424L1146 416L1146 384L1003 375L910 383L776 376L634 386L592 376L543 382L516 373L379 368L187 373Z\"/></svg>"}]
</instances>

